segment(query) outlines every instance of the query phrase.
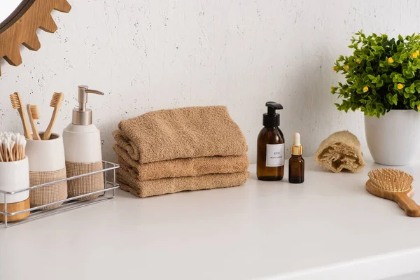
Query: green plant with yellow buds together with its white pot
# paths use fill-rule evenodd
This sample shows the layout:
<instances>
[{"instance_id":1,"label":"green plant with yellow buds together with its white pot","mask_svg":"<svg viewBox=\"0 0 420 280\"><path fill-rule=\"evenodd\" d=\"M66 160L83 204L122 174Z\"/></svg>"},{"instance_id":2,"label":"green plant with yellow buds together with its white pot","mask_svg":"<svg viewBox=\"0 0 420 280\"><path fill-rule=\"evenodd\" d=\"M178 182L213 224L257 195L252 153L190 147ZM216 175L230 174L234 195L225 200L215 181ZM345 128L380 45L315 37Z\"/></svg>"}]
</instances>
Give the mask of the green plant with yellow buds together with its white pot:
<instances>
[{"instance_id":1,"label":"green plant with yellow buds together with its white pot","mask_svg":"<svg viewBox=\"0 0 420 280\"><path fill-rule=\"evenodd\" d=\"M351 37L353 55L341 55L334 71L344 83L331 87L340 111L365 114L372 158L381 165L408 165L420 143L420 34L403 38Z\"/></svg>"}]
</instances>

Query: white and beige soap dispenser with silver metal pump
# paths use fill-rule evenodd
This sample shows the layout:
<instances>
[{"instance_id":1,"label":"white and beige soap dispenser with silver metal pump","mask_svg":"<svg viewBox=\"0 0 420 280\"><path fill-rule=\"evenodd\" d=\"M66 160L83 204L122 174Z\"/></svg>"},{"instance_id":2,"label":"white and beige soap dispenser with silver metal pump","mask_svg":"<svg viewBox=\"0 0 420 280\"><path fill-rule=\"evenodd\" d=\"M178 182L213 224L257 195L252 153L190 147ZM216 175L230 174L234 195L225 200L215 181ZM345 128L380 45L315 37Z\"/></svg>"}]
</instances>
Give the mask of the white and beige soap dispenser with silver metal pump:
<instances>
[{"instance_id":1,"label":"white and beige soap dispenser with silver metal pump","mask_svg":"<svg viewBox=\"0 0 420 280\"><path fill-rule=\"evenodd\" d=\"M102 170L100 132L92 124L92 109L87 109L88 94L104 93L90 90L86 85L78 86L78 108L73 109L73 120L63 132L67 178ZM68 196L76 197L97 190L104 190L102 173L68 181ZM81 197L78 200L93 200L101 193Z\"/></svg>"}]
</instances>

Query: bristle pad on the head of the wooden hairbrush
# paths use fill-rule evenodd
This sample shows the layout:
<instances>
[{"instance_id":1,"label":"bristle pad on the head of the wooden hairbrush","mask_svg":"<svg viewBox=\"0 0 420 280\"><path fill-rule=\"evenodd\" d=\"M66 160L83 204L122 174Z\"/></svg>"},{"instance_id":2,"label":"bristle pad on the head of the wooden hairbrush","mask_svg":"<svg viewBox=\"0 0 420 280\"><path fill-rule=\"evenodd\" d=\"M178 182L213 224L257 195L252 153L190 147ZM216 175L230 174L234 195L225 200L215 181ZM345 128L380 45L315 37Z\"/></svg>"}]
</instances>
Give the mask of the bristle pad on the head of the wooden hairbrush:
<instances>
[{"instance_id":1,"label":"bristle pad on the head of the wooden hairbrush","mask_svg":"<svg viewBox=\"0 0 420 280\"><path fill-rule=\"evenodd\" d=\"M373 169L367 176L369 176L373 186L389 192L410 190L414 181L410 174L391 168Z\"/></svg>"}]
</instances>

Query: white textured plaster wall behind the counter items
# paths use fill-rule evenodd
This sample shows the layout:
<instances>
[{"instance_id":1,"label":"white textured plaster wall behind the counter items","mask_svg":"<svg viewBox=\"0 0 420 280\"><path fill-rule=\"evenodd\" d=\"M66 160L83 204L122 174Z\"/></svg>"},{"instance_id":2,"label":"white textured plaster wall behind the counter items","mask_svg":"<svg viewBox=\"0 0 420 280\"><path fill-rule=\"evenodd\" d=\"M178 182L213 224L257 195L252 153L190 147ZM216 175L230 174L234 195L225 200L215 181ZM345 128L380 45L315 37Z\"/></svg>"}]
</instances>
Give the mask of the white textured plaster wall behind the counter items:
<instances>
[{"instance_id":1,"label":"white textured plaster wall behind the counter items","mask_svg":"<svg viewBox=\"0 0 420 280\"><path fill-rule=\"evenodd\" d=\"M157 109L223 104L243 130L255 161L265 102L284 106L281 130L289 146L301 132L311 155L337 130L365 146L363 116L335 109L332 64L353 31L419 31L420 2L311 0L69 0L69 14L53 13L59 30L38 31L41 50L22 48L19 67L1 63L0 130L19 131L8 94L41 106L48 125L52 92L66 94L61 131L70 122L79 84L93 96L94 123L104 158L113 160L112 130L124 118ZM290 151L288 148L287 152Z\"/></svg>"}]
</instances>

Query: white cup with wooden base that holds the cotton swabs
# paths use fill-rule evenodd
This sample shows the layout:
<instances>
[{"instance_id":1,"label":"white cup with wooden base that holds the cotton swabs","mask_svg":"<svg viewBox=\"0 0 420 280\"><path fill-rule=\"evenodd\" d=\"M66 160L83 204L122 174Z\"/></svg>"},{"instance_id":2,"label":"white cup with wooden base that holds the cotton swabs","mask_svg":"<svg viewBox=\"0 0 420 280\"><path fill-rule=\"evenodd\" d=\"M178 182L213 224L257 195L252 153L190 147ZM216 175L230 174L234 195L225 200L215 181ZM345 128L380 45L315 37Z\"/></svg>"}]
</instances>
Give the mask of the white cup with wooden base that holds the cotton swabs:
<instances>
[{"instance_id":1,"label":"white cup with wooden base that holds the cotton swabs","mask_svg":"<svg viewBox=\"0 0 420 280\"><path fill-rule=\"evenodd\" d=\"M28 158L16 162L0 162L0 190L14 192L29 188L29 165ZM0 211L4 211L5 197L0 193ZM29 190L6 195L7 212L17 212L29 209ZM29 211L21 214L8 216L8 222L20 221L29 216ZM0 215L0 222L4 222L4 215Z\"/></svg>"}]
</instances>

